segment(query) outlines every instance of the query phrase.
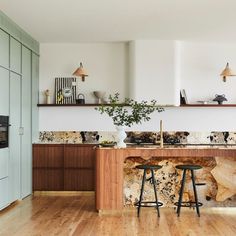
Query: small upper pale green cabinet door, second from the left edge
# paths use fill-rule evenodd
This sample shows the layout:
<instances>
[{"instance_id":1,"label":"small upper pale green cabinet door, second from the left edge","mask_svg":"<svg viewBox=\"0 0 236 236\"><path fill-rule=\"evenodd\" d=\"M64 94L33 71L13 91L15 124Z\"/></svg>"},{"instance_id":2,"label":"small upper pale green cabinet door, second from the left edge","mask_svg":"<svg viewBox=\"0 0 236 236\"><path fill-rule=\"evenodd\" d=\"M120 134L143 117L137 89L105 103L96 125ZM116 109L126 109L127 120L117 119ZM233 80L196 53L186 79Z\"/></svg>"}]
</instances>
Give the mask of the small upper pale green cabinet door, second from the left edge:
<instances>
[{"instance_id":1,"label":"small upper pale green cabinet door, second from the left edge","mask_svg":"<svg viewBox=\"0 0 236 236\"><path fill-rule=\"evenodd\" d=\"M10 37L10 68L11 71L21 73L21 43Z\"/></svg>"}]
</instances>

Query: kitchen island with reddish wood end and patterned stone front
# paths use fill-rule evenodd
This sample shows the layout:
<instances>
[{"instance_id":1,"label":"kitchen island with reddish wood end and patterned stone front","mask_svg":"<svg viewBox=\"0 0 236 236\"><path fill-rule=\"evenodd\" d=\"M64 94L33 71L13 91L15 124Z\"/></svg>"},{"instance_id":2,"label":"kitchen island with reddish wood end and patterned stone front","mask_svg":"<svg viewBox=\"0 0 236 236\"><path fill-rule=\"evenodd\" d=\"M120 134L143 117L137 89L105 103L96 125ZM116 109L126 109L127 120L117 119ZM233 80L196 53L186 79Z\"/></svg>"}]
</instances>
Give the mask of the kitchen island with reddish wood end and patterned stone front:
<instances>
[{"instance_id":1,"label":"kitchen island with reddish wood end and patterned stone front","mask_svg":"<svg viewBox=\"0 0 236 236\"><path fill-rule=\"evenodd\" d=\"M138 200L142 171L139 164L159 164L155 172L158 197L164 206L171 207L178 199L181 172L177 164L197 164L199 200L203 206L236 206L236 147L234 146L179 146L128 147L96 149L96 209L123 210ZM145 186L144 199L151 200L151 183ZM150 199L151 198L151 199ZM193 200L190 177L184 191L184 200Z\"/></svg>"}]
</instances>

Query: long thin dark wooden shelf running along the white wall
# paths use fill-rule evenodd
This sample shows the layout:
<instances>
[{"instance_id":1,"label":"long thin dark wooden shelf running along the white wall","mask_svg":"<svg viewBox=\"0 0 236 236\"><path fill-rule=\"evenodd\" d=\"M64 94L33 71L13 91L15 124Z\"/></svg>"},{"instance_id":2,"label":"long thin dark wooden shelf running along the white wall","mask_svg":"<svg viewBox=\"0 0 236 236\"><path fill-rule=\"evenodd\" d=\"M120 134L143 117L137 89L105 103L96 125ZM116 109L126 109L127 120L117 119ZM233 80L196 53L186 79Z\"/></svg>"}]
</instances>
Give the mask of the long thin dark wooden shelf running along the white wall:
<instances>
[{"instance_id":1,"label":"long thin dark wooden shelf running along the white wall","mask_svg":"<svg viewBox=\"0 0 236 236\"><path fill-rule=\"evenodd\" d=\"M95 107L109 104L86 103L86 104L37 104L38 107ZM120 104L124 106L125 104ZM236 107L236 104L185 104L180 106L174 105L160 105L160 107Z\"/></svg>"}]
</instances>

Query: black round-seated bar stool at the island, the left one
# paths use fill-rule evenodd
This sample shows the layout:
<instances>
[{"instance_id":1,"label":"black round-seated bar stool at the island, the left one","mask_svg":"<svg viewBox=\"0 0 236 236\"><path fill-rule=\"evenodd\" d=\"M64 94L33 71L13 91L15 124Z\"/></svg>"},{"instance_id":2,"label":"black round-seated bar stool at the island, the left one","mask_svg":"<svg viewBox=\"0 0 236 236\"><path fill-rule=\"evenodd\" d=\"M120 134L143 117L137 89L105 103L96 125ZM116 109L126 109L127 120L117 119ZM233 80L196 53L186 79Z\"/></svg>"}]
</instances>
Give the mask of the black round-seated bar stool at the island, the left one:
<instances>
[{"instance_id":1,"label":"black round-seated bar stool at the island, the left one","mask_svg":"<svg viewBox=\"0 0 236 236\"><path fill-rule=\"evenodd\" d=\"M154 175L154 170L161 169L162 166L159 166L159 165L138 165L138 166L136 166L136 168L143 170L143 180L142 180L142 187L141 187L140 197L139 197L139 201L137 203L135 203L135 205L138 207L138 217L139 217L141 207L156 207L158 217L160 217L159 207L162 206L163 203L158 202L157 192L156 192L156 179L155 179L155 175ZM148 179L146 178L147 170L151 171L151 177L148 178ZM146 181L151 181L151 183L153 184L153 190L154 190L154 194L155 194L155 201L142 201L144 184L145 184Z\"/></svg>"}]
</instances>

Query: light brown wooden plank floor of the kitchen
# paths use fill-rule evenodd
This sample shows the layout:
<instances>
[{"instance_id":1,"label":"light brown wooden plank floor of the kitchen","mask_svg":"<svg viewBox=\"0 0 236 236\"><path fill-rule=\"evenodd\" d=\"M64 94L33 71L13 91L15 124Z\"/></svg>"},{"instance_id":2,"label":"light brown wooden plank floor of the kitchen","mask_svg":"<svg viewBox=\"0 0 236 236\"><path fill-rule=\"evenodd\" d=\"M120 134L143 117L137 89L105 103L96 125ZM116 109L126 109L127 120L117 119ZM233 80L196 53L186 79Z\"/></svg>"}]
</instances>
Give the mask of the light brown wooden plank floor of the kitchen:
<instances>
[{"instance_id":1,"label":"light brown wooden plank floor of the kitchen","mask_svg":"<svg viewBox=\"0 0 236 236\"><path fill-rule=\"evenodd\" d=\"M173 208L128 210L122 215L98 215L94 196L28 197L0 213L0 235L236 235L236 208L183 209L178 218Z\"/></svg>"}]
</instances>

